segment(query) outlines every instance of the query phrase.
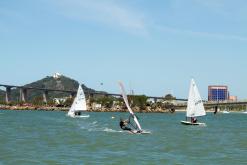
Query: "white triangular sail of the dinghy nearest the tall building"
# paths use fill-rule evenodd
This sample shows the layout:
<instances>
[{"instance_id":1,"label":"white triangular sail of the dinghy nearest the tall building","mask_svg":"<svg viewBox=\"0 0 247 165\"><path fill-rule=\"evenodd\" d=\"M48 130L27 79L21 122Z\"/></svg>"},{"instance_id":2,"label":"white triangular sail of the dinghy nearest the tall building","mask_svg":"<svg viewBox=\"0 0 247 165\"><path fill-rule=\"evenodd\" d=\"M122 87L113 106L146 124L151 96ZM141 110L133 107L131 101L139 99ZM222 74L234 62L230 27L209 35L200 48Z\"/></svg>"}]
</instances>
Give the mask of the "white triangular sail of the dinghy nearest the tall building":
<instances>
[{"instance_id":1,"label":"white triangular sail of the dinghy nearest the tall building","mask_svg":"<svg viewBox=\"0 0 247 165\"><path fill-rule=\"evenodd\" d=\"M199 94L196 83L193 79L190 82L190 91L186 109L187 117L197 117L206 115L206 111L203 106L203 101Z\"/></svg>"}]
</instances>

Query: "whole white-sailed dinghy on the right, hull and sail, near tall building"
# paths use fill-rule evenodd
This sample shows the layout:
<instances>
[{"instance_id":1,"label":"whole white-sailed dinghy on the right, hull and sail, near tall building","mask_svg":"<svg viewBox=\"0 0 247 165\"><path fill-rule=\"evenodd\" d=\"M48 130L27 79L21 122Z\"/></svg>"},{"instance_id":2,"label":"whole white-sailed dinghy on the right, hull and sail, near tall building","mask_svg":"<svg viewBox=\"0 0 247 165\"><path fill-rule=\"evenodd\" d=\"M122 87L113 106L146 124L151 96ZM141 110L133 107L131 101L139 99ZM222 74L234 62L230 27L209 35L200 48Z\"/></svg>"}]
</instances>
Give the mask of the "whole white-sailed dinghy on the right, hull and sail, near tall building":
<instances>
[{"instance_id":1,"label":"whole white-sailed dinghy on the right, hull and sail, near tall building","mask_svg":"<svg viewBox=\"0 0 247 165\"><path fill-rule=\"evenodd\" d=\"M206 111L203 106L203 101L194 79L191 79L186 109L186 121L181 121L181 123L185 125L206 125L205 123L199 123L196 121L196 117L204 115L206 115Z\"/></svg>"}]
</instances>

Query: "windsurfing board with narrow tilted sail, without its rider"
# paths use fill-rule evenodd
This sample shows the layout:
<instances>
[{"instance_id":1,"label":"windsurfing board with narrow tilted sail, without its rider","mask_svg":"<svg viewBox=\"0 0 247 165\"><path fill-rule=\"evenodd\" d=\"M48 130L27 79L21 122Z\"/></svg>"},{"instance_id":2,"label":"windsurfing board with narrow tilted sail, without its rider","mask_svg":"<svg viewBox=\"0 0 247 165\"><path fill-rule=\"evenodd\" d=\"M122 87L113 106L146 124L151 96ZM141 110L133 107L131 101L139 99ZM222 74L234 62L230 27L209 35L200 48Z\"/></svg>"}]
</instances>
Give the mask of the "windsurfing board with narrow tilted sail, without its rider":
<instances>
[{"instance_id":1,"label":"windsurfing board with narrow tilted sail, without its rider","mask_svg":"<svg viewBox=\"0 0 247 165\"><path fill-rule=\"evenodd\" d=\"M119 86L120 86L120 89L121 89L121 92L122 92L122 96L123 96L123 99L124 99L124 102L125 102L125 105L127 106L127 109L130 113L130 117L129 117L129 126L132 128L131 131L129 131L130 133L133 133L133 134L150 134L151 132L149 131L145 131L141 128L141 125L136 117L136 115L134 114L134 112L132 111L132 109L130 108L130 105L129 105L129 102L128 102L128 99L127 99L127 95L126 95L126 92L125 92L125 89L124 89L124 86L121 82L119 82ZM133 122L130 121L130 119L133 119Z\"/></svg>"}]
</instances>

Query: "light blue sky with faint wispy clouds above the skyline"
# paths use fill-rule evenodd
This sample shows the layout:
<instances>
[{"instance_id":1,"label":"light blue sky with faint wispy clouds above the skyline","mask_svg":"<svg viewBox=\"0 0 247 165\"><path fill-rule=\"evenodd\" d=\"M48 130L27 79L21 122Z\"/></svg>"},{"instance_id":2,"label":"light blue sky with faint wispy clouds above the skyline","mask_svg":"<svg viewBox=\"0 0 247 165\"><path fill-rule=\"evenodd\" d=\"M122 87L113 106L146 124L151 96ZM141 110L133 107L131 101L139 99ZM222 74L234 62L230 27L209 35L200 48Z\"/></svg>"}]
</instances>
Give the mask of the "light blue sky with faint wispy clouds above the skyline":
<instances>
[{"instance_id":1,"label":"light blue sky with faint wispy clouds above the skyline","mask_svg":"<svg viewBox=\"0 0 247 165\"><path fill-rule=\"evenodd\" d=\"M247 98L245 0L0 1L0 84L59 72L87 87L187 98L190 79Z\"/></svg>"}]
</instances>

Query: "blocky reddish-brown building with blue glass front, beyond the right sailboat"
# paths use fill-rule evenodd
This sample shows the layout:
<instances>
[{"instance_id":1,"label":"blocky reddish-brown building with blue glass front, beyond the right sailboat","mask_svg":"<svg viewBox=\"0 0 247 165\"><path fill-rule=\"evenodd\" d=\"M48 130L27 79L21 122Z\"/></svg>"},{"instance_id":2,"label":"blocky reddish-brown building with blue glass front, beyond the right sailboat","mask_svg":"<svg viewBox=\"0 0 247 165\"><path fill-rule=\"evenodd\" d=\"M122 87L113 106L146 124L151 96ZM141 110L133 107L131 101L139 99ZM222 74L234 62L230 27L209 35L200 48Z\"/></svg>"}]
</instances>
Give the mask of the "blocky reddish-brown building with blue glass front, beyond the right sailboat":
<instances>
[{"instance_id":1,"label":"blocky reddish-brown building with blue glass front, beyond the right sailboat","mask_svg":"<svg viewBox=\"0 0 247 165\"><path fill-rule=\"evenodd\" d=\"M225 101L228 100L228 87L225 85L208 86L208 101Z\"/></svg>"}]
</instances>

